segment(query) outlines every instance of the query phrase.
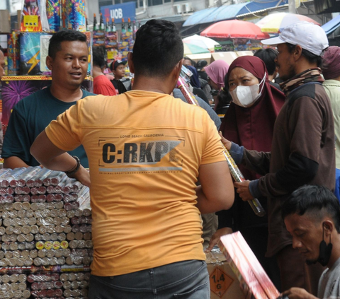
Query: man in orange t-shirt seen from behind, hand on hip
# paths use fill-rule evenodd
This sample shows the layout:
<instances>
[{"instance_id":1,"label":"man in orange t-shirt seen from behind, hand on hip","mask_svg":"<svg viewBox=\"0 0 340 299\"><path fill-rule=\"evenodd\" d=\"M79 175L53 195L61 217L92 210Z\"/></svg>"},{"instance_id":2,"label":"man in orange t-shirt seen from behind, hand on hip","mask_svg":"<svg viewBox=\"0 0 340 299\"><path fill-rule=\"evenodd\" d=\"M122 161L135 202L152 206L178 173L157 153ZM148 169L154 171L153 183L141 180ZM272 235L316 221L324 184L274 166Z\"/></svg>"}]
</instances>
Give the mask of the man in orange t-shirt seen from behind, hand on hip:
<instances>
[{"instance_id":1,"label":"man in orange t-shirt seen from behind, hand on hip","mask_svg":"<svg viewBox=\"0 0 340 299\"><path fill-rule=\"evenodd\" d=\"M182 57L174 23L149 20L128 55L132 90L80 100L31 148L91 182L90 299L210 298L200 213L229 209L234 189L208 113L170 95ZM90 172L65 152L79 144Z\"/></svg>"}]
</instances>

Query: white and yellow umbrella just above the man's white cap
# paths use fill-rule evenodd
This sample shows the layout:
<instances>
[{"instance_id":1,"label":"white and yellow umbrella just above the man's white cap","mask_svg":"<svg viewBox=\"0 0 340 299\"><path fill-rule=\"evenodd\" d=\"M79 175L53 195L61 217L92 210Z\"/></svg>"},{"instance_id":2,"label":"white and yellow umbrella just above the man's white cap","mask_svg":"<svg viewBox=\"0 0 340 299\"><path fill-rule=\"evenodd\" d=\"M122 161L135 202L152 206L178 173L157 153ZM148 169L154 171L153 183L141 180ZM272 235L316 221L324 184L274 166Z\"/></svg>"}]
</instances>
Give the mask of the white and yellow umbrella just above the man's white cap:
<instances>
[{"instance_id":1,"label":"white and yellow umbrella just above the man's white cap","mask_svg":"<svg viewBox=\"0 0 340 299\"><path fill-rule=\"evenodd\" d=\"M307 20L307 22L320 25L316 20L296 13L271 13L259 20L256 25L261 28L263 33L279 33L280 29L293 23L300 22L300 20Z\"/></svg>"}]
</instances>

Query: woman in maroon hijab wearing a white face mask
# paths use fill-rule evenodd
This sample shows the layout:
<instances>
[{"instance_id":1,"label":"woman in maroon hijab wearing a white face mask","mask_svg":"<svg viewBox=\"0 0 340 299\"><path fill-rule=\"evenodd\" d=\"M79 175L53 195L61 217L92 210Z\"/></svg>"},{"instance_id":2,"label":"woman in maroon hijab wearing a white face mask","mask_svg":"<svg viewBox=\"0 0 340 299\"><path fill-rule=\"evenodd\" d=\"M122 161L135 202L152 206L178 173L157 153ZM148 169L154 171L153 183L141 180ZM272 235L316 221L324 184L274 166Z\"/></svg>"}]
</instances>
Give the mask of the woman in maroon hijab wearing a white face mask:
<instances>
[{"instance_id":1,"label":"woman in maroon hijab wearing a white face mask","mask_svg":"<svg viewBox=\"0 0 340 299\"><path fill-rule=\"evenodd\" d=\"M271 151L273 127L285 95L268 81L266 65L258 57L243 56L235 59L225 76L225 88L232 96L232 103L222 120L222 135L234 143L256 151ZM239 169L246 180L256 180L261 175ZM266 209L266 198L259 198ZM259 262L279 288L279 271L275 259L265 257L268 239L267 216L256 216L249 203L235 195L234 206L218 214L219 230L212 236L210 245L220 235L239 230Z\"/></svg>"}]
</instances>

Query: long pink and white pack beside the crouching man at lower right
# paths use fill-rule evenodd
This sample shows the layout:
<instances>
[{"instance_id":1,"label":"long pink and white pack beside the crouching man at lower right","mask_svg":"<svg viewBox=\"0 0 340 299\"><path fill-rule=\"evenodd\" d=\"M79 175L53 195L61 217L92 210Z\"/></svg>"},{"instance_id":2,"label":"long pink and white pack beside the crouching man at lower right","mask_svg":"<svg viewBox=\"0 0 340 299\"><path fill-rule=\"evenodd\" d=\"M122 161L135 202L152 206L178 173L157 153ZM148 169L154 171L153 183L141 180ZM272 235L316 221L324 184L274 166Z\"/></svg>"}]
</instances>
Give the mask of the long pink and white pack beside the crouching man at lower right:
<instances>
[{"instance_id":1,"label":"long pink and white pack beside the crouching man at lower right","mask_svg":"<svg viewBox=\"0 0 340 299\"><path fill-rule=\"evenodd\" d=\"M280 293L241 233L223 235L220 238L220 250L225 254L232 271L239 279L244 293L250 291L256 299L278 298Z\"/></svg>"}]
</instances>

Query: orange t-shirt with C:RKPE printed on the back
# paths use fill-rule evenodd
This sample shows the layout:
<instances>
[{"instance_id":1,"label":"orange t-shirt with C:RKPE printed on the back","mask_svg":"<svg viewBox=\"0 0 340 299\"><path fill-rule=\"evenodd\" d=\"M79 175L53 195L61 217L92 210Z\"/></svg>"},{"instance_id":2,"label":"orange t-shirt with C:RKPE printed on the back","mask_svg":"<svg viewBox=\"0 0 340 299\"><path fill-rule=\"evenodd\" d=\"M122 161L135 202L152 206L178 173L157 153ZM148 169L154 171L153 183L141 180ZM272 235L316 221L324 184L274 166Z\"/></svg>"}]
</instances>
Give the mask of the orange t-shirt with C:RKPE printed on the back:
<instances>
[{"instance_id":1,"label":"orange t-shirt with C:RKPE printed on the back","mask_svg":"<svg viewBox=\"0 0 340 299\"><path fill-rule=\"evenodd\" d=\"M78 100L46 134L64 151L83 144L89 158L92 274L205 259L198 168L225 160L205 110L144 90L96 95Z\"/></svg>"}]
</instances>

